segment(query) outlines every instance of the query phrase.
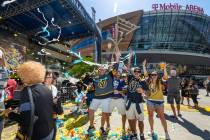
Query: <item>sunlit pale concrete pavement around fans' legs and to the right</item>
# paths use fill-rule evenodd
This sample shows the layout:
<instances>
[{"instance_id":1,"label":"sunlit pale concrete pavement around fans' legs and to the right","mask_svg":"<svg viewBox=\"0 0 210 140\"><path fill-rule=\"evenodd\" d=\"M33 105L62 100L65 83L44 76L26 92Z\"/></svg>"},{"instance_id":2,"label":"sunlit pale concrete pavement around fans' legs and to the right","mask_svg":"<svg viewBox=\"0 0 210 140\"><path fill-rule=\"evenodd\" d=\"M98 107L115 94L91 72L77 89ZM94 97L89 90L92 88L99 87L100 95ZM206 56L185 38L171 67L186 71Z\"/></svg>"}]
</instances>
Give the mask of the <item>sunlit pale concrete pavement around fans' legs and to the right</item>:
<instances>
[{"instance_id":1,"label":"sunlit pale concrete pavement around fans' legs and to the right","mask_svg":"<svg viewBox=\"0 0 210 140\"><path fill-rule=\"evenodd\" d=\"M172 140L210 140L210 97L206 97L206 91L201 89L198 96L199 106L201 109L196 110L187 105L181 106L182 117L175 120L170 117L172 111L168 104L165 104L165 116L168 123L168 130ZM166 98L165 98L166 101ZM187 104L185 99L184 104ZM193 105L192 100L190 104ZM205 110L206 109L206 110ZM148 123L148 114L145 106L145 136L147 139L151 139L148 134L150 131ZM117 110L112 113L111 116L111 129L121 128L121 116ZM96 128L100 127L100 116L96 117ZM87 128L89 124L84 126ZM128 125L128 123L127 123ZM163 139L164 130L162 128L160 120L154 116L154 128L155 132L159 135L159 139Z\"/></svg>"}]
</instances>

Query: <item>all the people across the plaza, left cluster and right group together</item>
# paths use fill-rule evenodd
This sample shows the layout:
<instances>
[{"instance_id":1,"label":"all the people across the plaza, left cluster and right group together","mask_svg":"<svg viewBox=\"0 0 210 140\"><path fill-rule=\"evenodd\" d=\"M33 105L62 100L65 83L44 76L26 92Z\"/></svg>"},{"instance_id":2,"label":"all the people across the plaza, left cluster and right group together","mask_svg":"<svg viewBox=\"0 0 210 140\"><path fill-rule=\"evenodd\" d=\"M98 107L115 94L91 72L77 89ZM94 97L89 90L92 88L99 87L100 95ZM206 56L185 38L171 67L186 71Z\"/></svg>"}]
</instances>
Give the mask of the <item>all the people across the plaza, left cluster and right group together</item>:
<instances>
[{"instance_id":1,"label":"all the people across the plaza, left cluster and right group together","mask_svg":"<svg viewBox=\"0 0 210 140\"><path fill-rule=\"evenodd\" d=\"M130 61L128 64L131 64ZM100 125L102 136L106 136L111 129L110 117L114 108L117 108L122 120L122 135L126 134L126 120L128 120L129 139L136 140L139 137L144 140L143 105L146 102L151 137L155 138L157 135L154 130L154 114L157 114L165 132L165 139L170 140L164 115L164 90L167 90L167 103L170 104L173 112L171 117L177 119L182 116L180 104L184 103L184 98L187 98L188 105L190 105L189 99L192 98L194 107L198 109L199 89L195 80L179 78L174 69L171 69L168 75L166 63L161 63L159 71L150 72L147 70L146 60L143 61L142 68L130 68L129 65L125 67L120 63L119 56L116 54L116 63L109 69L99 67L97 72L92 75L86 74L76 84L77 93L85 93L84 99L90 122L89 135L91 136L91 132L95 130L94 115L98 108L102 108ZM17 139L54 140L56 115L63 113L56 87L58 75L51 70L46 70L41 63L29 61L17 68L21 81L16 82L9 79L1 51L0 65L0 134L4 128L5 118L9 118L19 124ZM208 96L210 77L204 85ZM16 97L18 93L20 97ZM20 103L12 107L10 103L14 103L16 98ZM78 102L81 101L78 100ZM6 109L5 105L8 106Z\"/></svg>"}]
</instances>

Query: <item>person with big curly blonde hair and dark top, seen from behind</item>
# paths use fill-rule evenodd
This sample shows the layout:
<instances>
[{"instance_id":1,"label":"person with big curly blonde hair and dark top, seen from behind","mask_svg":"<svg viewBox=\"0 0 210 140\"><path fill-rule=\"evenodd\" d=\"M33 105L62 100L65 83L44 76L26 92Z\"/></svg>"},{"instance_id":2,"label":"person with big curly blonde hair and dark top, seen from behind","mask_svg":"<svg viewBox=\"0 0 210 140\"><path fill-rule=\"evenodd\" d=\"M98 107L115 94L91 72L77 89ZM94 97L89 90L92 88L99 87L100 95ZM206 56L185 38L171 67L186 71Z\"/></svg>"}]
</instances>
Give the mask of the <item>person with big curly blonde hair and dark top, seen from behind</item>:
<instances>
[{"instance_id":1,"label":"person with big curly blonde hair and dark top, seen from behind","mask_svg":"<svg viewBox=\"0 0 210 140\"><path fill-rule=\"evenodd\" d=\"M17 74L24 83L20 94L18 113L7 110L5 116L17 121L19 130L17 139L52 140L53 126L53 98L50 90L43 85L45 67L35 61L21 64Z\"/></svg>"}]
</instances>

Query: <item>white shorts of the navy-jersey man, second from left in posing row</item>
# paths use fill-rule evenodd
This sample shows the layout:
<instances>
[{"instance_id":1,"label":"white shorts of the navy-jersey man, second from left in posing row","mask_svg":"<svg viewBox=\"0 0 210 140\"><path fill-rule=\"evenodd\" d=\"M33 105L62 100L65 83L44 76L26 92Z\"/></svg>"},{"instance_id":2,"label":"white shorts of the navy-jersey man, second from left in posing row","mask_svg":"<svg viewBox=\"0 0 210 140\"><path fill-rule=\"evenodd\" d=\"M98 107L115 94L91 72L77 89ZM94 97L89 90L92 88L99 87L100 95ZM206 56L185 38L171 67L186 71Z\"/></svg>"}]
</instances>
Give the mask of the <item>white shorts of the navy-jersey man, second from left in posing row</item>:
<instances>
[{"instance_id":1,"label":"white shorts of the navy-jersey man, second from left in posing row","mask_svg":"<svg viewBox=\"0 0 210 140\"><path fill-rule=\"evenodd\" d=\"M110 113L112 113L114 108L117 108L118 113L121 115L125 115L125 100L123 98L111 99L110 100Z\"/></svg>"}]
</instances>

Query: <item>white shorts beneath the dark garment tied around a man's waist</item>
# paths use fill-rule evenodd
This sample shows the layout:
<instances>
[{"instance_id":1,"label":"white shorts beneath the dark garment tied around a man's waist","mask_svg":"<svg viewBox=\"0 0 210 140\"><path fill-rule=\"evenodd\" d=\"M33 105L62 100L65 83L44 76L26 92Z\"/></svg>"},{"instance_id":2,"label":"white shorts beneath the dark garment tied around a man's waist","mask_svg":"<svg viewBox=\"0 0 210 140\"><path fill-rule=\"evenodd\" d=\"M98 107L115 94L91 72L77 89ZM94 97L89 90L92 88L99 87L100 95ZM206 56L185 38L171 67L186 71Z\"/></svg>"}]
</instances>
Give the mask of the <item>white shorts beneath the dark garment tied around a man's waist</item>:
<instances>
[{"instance_id":1,"label":"white shorts beneath the dark garment tied around a man's waist","mask_svg":"<svg viewBox=\"0 0 210 140\"><path fill-rule=\"evenodd\" d=\"M144 121L144 105L143 103L140 103L139 106L141 108L140 114L136 110L136 104L131 103L130 108L126 110L126 117L128 118L128 120L136 119L138 121Z\"/></svg>"}]
</instances>

